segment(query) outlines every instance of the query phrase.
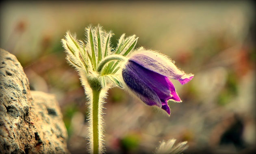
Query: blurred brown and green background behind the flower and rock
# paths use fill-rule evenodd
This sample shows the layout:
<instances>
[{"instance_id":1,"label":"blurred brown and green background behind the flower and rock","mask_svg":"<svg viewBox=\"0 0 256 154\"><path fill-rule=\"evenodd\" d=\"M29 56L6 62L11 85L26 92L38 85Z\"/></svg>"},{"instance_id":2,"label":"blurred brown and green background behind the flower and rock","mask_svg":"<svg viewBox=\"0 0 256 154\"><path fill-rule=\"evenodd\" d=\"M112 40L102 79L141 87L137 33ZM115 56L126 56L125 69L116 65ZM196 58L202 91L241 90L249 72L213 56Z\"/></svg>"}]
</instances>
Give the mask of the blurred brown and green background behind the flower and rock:
<instances>
[{"instance_id":1,"label":"blurred brown and green background behind the flower and rock","mask_svg":"<svg viewBox=\"0 0 256 154\"><path fill-rule=\"evenodd\" d=\"M151 154L159 141L188 141L184 154L237 154L256 148L255 4L252 1L4 1L0 46L24 67L30 89L56 95L69 134L68 149L86 153L87 102L61 44L65 32L85 39L89 24L137 35L143 46L168 55L187 73L182 103L171 116L110 89L106 153Z\"/></svg>"}]
</instances>

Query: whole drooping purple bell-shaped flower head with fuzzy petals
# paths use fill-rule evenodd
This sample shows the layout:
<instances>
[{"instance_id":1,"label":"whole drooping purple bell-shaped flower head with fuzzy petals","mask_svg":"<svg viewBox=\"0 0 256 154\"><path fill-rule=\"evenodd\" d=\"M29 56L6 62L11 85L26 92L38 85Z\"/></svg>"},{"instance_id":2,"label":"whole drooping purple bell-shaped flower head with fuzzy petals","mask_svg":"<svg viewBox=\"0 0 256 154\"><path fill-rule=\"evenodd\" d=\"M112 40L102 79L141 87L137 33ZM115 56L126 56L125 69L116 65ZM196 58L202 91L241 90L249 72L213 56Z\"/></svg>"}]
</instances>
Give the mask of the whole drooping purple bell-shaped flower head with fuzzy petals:
<instances>
[{"instance_id":1,"label":"whole drooping purple bell-shaped flower head with fuzzy petals","mask_svg":"<svg viewBox=\"0 0 256 154\"><path fill-rule=\"evenodd\" d=\"M143 50L128 59L122 76L127 87L145 104L161 107L170 115L167 101L182 101L169 78L176 79L184 85L194 75L180 71L162 54Z\"/></svg>"}]
</instances>

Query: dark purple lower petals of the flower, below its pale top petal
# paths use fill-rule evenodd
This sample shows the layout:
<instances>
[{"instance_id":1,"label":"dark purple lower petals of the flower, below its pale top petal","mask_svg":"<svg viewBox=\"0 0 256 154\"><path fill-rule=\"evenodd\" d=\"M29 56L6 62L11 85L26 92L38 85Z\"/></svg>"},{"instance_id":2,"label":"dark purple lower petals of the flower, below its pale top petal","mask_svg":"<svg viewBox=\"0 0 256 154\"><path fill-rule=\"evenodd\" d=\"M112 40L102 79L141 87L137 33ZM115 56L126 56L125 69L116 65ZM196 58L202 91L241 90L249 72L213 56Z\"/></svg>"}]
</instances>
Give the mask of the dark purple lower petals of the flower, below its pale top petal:
<instances>
[{"instance_id":1,"label":"dark purple lower petals of the flower, below its pale top petal","mask_svg":"<svg viewBox=\"0 0 256 154\"><path fill-rule=\"evenodd\" d=\"M133 61L126 63L122 75L126 85L147 105L162 105L169 114L167 101L172 99L181 102L174 85L166 76L145 69Z\"/></svg>"}]
</instances>

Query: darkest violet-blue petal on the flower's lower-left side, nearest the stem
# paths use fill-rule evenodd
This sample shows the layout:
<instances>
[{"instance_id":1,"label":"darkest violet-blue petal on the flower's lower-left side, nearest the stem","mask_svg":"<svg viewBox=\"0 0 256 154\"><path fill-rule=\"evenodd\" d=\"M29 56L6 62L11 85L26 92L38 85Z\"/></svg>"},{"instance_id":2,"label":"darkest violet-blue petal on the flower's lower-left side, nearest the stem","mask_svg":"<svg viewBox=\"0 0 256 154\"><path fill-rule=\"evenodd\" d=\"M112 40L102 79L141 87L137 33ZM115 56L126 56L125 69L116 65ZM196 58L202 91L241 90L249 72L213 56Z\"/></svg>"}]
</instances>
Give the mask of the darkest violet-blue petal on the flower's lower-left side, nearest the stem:
<instances>
[{"instance_id":1,"label":"darkest violet-blue petal on the flower's lower-left side, nearest the stem","mask_svg":"<svg viewBox=\"0 0 256 154\"><path fill-rule=\"evenodd\" d=\"M126 67L122 70L122 76L126 85L147 105L161 107L161 101L147 83L145 83L134 70Z\"/></svg>"}]
</instances>

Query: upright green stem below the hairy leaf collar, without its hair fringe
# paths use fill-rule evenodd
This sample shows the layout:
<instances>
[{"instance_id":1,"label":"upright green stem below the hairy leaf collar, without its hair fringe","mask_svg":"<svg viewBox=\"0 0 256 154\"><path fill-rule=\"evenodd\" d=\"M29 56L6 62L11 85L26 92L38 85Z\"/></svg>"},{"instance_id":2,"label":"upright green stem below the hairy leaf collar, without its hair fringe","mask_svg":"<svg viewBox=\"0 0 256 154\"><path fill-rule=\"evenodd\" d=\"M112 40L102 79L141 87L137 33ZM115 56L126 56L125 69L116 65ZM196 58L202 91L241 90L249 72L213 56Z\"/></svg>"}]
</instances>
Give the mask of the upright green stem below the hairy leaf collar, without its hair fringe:
<instances>
[{"instance_id":1,"label":"upright green stem below the hairy leaf collar, without its hair fringe","mask_svg":"<svg viewBox=\"0 0 256 154\"><path fill-rule=\"evenodd\" d=\"M99 99L100 91L93 90L92 126L93 126L93 154L99 153Z\"/></svg>"}]
</instances>

